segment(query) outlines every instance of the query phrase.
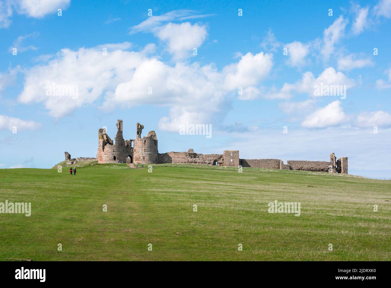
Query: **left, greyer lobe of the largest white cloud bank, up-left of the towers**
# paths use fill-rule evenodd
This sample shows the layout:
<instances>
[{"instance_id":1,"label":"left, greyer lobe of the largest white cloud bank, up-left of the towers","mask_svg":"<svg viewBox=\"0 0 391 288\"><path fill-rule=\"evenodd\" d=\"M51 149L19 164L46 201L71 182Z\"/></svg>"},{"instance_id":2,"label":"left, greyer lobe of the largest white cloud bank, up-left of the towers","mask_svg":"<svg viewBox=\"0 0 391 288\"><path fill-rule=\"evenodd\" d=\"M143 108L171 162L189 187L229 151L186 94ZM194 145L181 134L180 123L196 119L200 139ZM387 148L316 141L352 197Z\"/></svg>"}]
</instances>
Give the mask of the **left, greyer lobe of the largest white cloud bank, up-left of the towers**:
<instances>
[{"instance_id":1,"label":"left, greyer lobe of the largest white cloud bank, up-left of the towers","mask_svg":"<svg viewBox=\"0 0 391 288\"><path fill-rule=\"evenodd\" d=\"M115 45L80 48L77 51L63 49L46 65L25 70L24 88L18 101L24 104L43 102L52 117L63 117L83 104L93 103L103 92L127 81L145 57L140 52L120 49L103 55L102 47L115 48ZM75 93L62 93L61 90L56 94L50 90L53 85L71 87ZM76 93L77 97L74 96Z\"/></svg>"}]
</instances>

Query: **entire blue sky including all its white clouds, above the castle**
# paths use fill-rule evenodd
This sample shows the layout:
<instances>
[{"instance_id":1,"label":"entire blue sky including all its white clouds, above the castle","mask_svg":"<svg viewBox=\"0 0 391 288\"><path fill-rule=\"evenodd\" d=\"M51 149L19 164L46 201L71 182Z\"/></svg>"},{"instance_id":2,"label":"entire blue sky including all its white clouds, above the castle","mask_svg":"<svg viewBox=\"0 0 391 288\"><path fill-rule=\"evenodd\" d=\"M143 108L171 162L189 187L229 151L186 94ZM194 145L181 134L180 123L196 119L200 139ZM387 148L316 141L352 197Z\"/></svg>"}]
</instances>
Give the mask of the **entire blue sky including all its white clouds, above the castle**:
<instances>
[{"instance_id":1,"label":"entire blue sky including all its white clouds, above the castle","mask_svg":"<svg viewBox=\"0 0 391 288\"><path fill-rule=\"evenodd\" d=\"M0 168L95 157L98 129L114 138L123 119L126 139L136 122L155 130L160 153L334 152L350 174L390 178L390 18L391 0L0 0ZM179 135L185 122L212 137Z\"/></svg>"}]
</instances>

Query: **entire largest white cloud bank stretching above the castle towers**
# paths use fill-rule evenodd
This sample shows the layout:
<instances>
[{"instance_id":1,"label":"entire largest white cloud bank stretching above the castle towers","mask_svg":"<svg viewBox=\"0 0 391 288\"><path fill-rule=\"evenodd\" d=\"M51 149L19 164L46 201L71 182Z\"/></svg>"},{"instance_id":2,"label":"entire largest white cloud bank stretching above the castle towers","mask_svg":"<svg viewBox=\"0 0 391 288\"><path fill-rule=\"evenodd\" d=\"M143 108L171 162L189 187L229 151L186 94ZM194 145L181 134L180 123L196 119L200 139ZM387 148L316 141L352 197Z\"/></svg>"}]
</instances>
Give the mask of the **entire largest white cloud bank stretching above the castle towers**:
<instances>
[{"instance_id":1,"label":"entire largest white cloud bank stretching above the castle towers","mask_svg":"<svg viewBox=\"0 0 391 288\"><path fill-rule=\"evenodd\" d=\"M273 67L273 55L248 53L237 62L218 70L213 64L176 63L167 65L149 57L154 49L141 52L102 47L129 47L105 44L73 51L63 49L45 64L23 70L25 83L20 103L43 103L49 115L60 118L104 98L100 108L156 105L169 108L159 121L163 130L178 131L180 124L219 124L231 109L232 93L242 87L242 99L254 99L259 85ZM47 93L52 86L72 86L78 97ZM61 92L61 91L60 91Z\"/></svg>"}]
</instances>

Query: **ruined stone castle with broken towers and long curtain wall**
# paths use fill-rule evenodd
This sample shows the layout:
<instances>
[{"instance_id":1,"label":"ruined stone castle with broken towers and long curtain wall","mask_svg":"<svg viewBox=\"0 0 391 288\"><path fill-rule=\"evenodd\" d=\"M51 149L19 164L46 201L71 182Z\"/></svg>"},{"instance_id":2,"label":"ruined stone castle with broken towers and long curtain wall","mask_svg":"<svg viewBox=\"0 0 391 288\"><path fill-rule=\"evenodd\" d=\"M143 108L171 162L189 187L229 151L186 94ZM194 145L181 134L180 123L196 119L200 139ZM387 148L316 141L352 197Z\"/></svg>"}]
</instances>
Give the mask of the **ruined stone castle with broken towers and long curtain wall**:
<instances>
[{"instance_id":1,"label":"ruined stone castle with broken towers and long curtain wall","mask_svg":"<svg viewBox=\"0 0 391 288\"><path fill-rule=\"evenodd\" d=\"M114 141L106 133L106 129L98 131L98 151L96 160L98 163L181 163L181 164L206 164L231 167L255 167L283 170L305 170L316 172L348 174L348 158L337 159L334 153L330 154L330 161L296 161L289 160L287 164L280 159L240 159L238 150L226 150L223 154L199 154L193 149L187 152L158 152L158 138L155 131L150 131L147 136L141 138L144 126L136 124L136 139L124 140L122 135L122 120L117 121L117 134ZM81 159L81 160L79 160ZM95 158L70 158L65 152L65 160L72 162L91 160Z\"/></svg>"}]
</instances>

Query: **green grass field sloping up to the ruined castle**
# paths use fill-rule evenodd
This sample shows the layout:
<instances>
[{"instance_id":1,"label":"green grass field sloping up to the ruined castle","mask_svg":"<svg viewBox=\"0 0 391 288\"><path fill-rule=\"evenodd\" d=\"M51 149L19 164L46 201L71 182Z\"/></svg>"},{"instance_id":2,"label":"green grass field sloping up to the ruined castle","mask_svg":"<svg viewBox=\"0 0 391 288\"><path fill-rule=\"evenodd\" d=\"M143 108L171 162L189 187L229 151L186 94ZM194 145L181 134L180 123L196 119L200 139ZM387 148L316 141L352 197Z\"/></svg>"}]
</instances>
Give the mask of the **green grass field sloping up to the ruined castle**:
<instances>
[{"instance_id":1,"label":"green grass field sloping up to the ruined castle","mask_svg":"<svg viewBox=\"0 0 391 288\"><path fill-rule=\"evenodd\" d=\"M32 203L30 217L0 214L1 261L391 260L391 181L172 164L0 169L0 181L0 202ZM301 215L269 214L274 200Z\"/></svg>"}]
</instances>

